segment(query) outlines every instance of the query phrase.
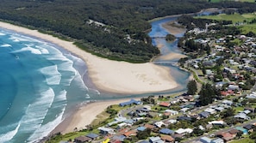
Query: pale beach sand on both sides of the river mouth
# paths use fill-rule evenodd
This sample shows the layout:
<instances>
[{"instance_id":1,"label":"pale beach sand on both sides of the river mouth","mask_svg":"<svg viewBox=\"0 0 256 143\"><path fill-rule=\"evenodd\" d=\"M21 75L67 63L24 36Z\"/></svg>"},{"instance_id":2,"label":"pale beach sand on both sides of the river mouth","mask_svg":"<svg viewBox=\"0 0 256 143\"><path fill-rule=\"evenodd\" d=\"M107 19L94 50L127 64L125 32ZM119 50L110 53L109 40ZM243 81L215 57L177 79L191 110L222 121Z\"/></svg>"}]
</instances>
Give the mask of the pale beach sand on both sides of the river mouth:
<instances>
[{"instance_id":1,"label":"pale beach sand on both sides of the river mouth","mask_svg":"<svg viewBox=\"0 0 256 143\"><path fill-rule=\"evenodd\" d=\"M153 63L126 63L116 62L96 57L73 45L72 42L64 41L48 34L39 33L25 27L17 27L9 23L0 22L0 27L24 33L35 38L44 39L55 45L71 51L81 57L86 63L89 77L93 84L102 91L116 93L142 93L159 92L170 90L178 86L170 75L170 70ZM116 101L96 102L80 107L59 124L52 133L68 133L74 128L84 128L111 104L119 104L129 99Z\"/></svg>"}]
</instances>

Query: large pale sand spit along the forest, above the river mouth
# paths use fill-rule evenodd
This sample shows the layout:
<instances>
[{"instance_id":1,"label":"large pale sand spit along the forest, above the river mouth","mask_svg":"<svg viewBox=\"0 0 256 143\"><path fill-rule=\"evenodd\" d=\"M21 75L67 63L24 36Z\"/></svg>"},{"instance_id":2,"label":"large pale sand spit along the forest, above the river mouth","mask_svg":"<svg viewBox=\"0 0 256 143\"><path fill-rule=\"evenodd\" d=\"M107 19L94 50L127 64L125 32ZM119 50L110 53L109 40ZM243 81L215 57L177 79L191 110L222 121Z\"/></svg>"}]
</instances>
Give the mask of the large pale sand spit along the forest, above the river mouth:
<instances>
[{"instance_id":1,"label":"large pale sand spit along the forest, above the river mouth","mask_svg":"<svg viewBox=\"0 0 256 143\"><path fill-rule=\"evenodd\" d=\"M17 27L5 22L0 22L0 27L44 39L81 57L88 66L89 77L93 84L101 91L135 94L166 91L178 86L168 68L153 63L110 61L91 55L73 45L72 42L39 33L36 30Z\"/></svg>"}]
</instances>

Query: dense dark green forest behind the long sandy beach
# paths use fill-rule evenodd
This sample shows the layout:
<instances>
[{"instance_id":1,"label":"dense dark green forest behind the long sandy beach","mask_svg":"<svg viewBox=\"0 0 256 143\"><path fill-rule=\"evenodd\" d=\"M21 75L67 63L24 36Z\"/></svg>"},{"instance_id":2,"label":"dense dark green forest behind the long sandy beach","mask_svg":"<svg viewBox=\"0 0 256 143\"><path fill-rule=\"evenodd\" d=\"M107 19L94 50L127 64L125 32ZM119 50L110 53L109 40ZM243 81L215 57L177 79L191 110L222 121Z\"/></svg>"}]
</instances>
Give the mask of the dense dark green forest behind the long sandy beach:
<instances>
[{"instance_id":1,"label":"dense dark green forest behind the long sandy beach","mask_svg":"<svg viewBox=\"0 0 256 143\"><path fill-rule=\"evenodd\" d=\"M148 20L208 8L253 11L253 3L205 0L1 0L0 19L35 28L101 57L145 63L159 55L151 44Z\"/></svg>"}]
</instances>

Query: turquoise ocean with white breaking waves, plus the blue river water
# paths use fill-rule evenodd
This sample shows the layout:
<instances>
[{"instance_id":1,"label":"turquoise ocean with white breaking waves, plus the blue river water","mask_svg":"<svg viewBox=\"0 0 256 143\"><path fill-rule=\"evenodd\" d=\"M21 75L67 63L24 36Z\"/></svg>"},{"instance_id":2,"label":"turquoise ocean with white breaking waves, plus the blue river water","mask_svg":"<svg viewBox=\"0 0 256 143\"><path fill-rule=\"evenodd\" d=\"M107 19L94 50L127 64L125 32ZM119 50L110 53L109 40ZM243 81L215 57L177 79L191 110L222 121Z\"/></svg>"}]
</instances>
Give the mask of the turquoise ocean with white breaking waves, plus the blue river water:
<instances>
[{"instance_id":1,"label":"turquoise ocean with white breaking waves, plus the blue river water","mask_svg":"<svg viewBox=\"0 0 256 143\"><path fill-rule=\"evenodd\" d=\"M171 20L153 22L149 35L167 34L160 26L165 21ZM163 54L181 52L177 41L162 43ZM0 29L0 61L0 143L36 142L47 136L70 111L90 100L184 91L190 76L169 65L170 74L180 85L176 89L139 95L98 92L91 86L87 67L80 58L47 41L5 29Z\"/></svg>"}]
</instances>

